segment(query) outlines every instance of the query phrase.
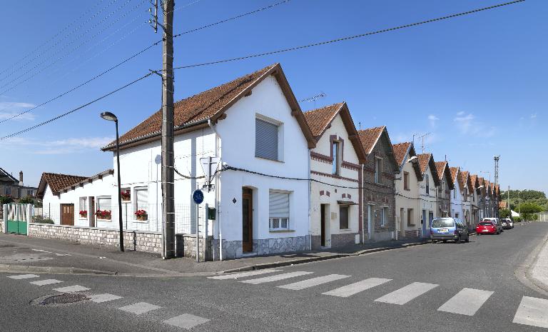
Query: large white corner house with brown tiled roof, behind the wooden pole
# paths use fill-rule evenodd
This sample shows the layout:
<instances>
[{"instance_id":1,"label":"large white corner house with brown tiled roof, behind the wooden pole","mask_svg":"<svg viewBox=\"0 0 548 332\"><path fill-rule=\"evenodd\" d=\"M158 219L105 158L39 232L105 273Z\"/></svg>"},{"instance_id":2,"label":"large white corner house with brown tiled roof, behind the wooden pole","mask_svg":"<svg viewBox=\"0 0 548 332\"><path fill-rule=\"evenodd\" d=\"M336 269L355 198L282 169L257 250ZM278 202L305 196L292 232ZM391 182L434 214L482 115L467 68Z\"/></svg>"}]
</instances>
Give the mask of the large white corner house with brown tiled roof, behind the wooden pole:
<instances>
[{"instance_id":1,"label":"large white corner house with brown tiled roof, behind the wooden pole","mask_svg":"<svg viewBox=\"0 0 548 332\"><path fill-rule=\"evenodd\" d=\"M205 247L214 259L310 248L309 149L315 139L280 64L176 102L174 119L178 252L191 255L197 213L201 237L208 221ZM146 211L138 222L158 228L161 111L123 134L120 149L122 186L133 211ZM114 151L114 144L103 151ZM213 178L215 190L205 192L214 220L191 200L205 184L200 159L210 156L223 165Z\"/></svg>"}]
</instances>

